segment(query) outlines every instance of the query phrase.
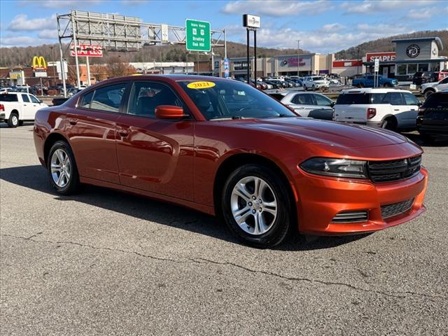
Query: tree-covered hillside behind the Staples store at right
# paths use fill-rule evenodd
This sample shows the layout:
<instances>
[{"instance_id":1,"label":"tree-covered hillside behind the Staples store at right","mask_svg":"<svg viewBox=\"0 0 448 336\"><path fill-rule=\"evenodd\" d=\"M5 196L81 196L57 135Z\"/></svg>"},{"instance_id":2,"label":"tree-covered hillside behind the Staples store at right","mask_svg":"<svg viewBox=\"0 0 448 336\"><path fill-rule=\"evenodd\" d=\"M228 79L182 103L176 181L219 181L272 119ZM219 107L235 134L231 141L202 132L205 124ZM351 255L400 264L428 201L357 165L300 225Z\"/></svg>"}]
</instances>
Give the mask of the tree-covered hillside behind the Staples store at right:
<instances>
[{"instance_id":1,"label":"tree-covered hillside behind the Staples store at right","mask_svg":"<svg viewBox=\"0 0 448 336\"><path fill-rule=\"evenodd\" d=\"M346 50L341 50L335 53L336 59L356 59L357 55L362 57L366 52L386 52L395 51L395 43L392 40L398 38L416 38L416 37L440 37L444 49L439 52L440 56L448 56L448 30L427 30L427 31L416 31L411 34L401 34L390 36L386 38L379 38L374 41L368 41L361 43L360 45L355 45L354 47L348 48ZM358 54L359 48L359 54Z\"/></svg>"}]
</instances>

